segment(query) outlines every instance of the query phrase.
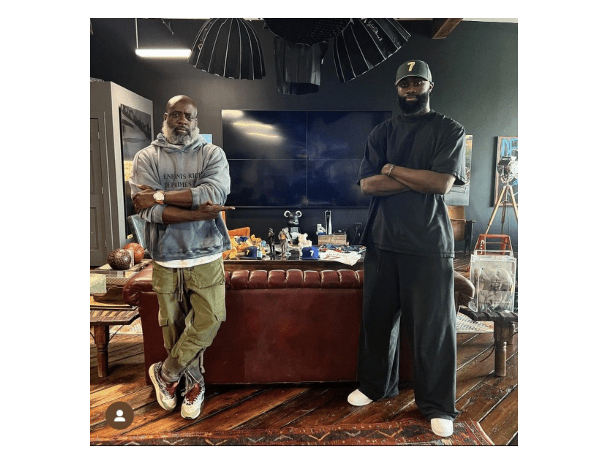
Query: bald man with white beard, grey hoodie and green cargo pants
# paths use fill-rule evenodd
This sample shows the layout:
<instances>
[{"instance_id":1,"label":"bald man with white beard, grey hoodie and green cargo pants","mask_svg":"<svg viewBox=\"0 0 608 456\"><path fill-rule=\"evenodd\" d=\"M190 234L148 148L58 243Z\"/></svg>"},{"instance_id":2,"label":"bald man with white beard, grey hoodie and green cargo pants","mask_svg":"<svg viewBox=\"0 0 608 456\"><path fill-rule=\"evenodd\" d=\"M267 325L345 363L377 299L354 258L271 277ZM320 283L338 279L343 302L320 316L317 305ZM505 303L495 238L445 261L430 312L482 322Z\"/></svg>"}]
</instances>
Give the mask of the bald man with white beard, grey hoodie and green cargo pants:
<instances>
[{"instance_id":1,"label":"bald man with white beard, grey hoodie and green cargo pants","mask_svg":"<svg viewBox=\"0 0 608 456\"><path fill-rule=\"evenodd\" d=\"M226 154L199 135L192 98L167 102L162 133L133 160L133 206L145 220L153 260L153 288L159 301L167 359L150 366L156 398L165 410L177 404L185 377L181 415L201 412L203 357L226 320L222 252L230 248L220 212L230 193Z\"/></svg>"}]
</instances>

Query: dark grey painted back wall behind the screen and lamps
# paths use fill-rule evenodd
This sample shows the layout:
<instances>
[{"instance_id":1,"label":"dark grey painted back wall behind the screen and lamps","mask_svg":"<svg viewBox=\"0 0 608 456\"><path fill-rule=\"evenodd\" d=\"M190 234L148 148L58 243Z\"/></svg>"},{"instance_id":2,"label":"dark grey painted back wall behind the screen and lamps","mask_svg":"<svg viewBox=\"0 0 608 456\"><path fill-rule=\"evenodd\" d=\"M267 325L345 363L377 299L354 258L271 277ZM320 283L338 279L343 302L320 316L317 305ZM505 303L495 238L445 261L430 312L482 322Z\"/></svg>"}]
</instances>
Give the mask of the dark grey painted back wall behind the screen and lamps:
<instances>
[{"instance_id":1,"label":"dark grey painted back wall behind the screen and lamps","mask_svg":"<svg viewBox=\"0 0 608 456\"><path fill-rule=\"evenodd\" d=\"M154 102L154 131L161 128L168 98L186 94L199 108L201 133L213 134L213 142L223 145L221 109L308 109L368 110L392 109L398 114L393 80L399 64L410 58L429 63L435 88L431 107L465 126L473 135L471 199L467 218L476 221L474 237L485 232L494 198L496 140L517 136L517 24L461 22L447 38L434 40L430 22L404 21L412 33L408 43L388 60L364 75L340 84L330 51L323 61L320 90L316 94L283 95L277 91L274 64L274 35L253 21L264 50L266 76L241 81L223 78L185 61L145 60L135 55L134 19L91 19L91 77L112 81ZM140 19L139 47L153 41L167 47L190 47L204 21L173 19L168 31L160 19ZM277 189L280 191L280 189ZM276 232L286 226L285 210L301 210L300 230L313 237L317 223L323 223L325 209L297 207L238 209L227 215L229 227L249 226L265 237L268 228ZM351 229L365 222L366 209L331 209L334 229ZM502 210L490 233L500 233ZM508 209L504 232L517 248L517 223Z\"/></svg>"}]
</instances>

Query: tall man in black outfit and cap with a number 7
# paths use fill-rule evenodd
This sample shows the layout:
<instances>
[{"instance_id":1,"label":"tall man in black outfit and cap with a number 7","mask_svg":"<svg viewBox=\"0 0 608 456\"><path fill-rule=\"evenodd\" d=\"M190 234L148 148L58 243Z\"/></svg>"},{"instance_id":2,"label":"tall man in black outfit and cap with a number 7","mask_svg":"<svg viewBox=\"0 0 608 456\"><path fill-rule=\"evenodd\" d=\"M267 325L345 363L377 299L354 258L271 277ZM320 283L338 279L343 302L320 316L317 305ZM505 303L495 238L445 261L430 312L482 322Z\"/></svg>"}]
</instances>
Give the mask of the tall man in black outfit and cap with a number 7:
<instances>
[{"instance_id":1,"label":"tall man in black outfit and cap with a number 7","mask_svg":"<svg viewBox=\"0 0 608 456\"><path fill-rule=\"evenodd\" d=\"M434 83L425 62L399 66L395 86L402 114L371 131L359 170L361 192L372 198L362 234L360 383L348 402L398 395L402 319L416 405L435 434L449 437L458 411L454 237L444 195L465 184L466 132L430 109Z\"/></svg>"}]
</instances>

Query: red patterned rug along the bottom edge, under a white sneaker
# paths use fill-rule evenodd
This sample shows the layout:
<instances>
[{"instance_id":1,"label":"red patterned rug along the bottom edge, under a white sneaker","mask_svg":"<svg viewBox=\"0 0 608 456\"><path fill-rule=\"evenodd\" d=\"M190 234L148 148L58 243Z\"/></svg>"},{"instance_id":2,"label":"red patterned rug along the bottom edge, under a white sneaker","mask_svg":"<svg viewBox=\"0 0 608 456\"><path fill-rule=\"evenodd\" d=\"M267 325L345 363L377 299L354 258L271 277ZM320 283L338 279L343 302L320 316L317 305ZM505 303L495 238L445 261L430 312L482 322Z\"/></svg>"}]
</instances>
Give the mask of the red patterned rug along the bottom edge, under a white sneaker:
<instances>
[{"instance_id":1,"label":"red patterned rug along the bottom edge, under a white sneaker","mask_svg":"<svg viewBox=\"0 0 608 456\"><path fill-rule=\"evenodd\" d=\"M492 446L476 421L455 421L451 437L438 437L416 418L390 423L282 429L226 430L135 437L92 437L91 446Z\"/></svg>"}]
</instances>

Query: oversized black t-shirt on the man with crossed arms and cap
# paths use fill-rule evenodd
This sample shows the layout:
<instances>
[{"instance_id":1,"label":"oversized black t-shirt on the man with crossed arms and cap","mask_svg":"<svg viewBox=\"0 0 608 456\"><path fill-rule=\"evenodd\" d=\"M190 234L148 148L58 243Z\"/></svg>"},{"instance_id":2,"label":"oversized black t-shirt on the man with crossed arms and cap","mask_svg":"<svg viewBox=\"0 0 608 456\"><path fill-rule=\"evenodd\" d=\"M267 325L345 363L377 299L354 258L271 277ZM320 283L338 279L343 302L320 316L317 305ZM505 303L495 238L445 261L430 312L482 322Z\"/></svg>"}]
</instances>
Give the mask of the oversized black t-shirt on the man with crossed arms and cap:
<instances>
[{"instance_id":1,"label":"oversized black t-shirt on the man with crossed arms and cap","mask_svg":"<svg viewBox=\"0 0 608 456\"><path fill-rule=\"evenodd\" d=\"M367 138L357 182L380 174L387 163L448 173L466 181L466 132L439 112L402 114L376 125ZM410 190L371 198L361 243L404 254L454 257L454 235L444 195Z\"/></svg>"}]
</instances>

